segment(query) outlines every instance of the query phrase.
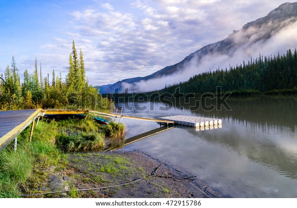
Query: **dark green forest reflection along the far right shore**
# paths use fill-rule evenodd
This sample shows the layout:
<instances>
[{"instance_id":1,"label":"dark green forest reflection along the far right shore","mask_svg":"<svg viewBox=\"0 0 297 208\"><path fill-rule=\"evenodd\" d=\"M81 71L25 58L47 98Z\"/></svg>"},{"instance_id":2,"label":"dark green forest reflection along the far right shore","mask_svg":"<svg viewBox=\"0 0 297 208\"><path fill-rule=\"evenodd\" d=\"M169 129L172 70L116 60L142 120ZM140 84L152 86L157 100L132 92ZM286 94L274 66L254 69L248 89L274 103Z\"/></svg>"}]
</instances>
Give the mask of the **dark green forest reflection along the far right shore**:
<instances>
[{"instance_id":1,"label":"dark green forest reflection along the far right shore","mask_svg":"<svg viewBox=\"0 0 297 208\"><path fill-rule=\"evenodd\" d=\"M192 111L194 115L205 117L226 118L240 123L249 123L255 128L275 128L276 126L290 127L292 131L296 128L297 118L297 96L250 96L250 97L229 97L226 103L232 110L206 111L207 106L217 107L215 99L206 99L206 102L199 99L190 99L189 103L177 100L171 102L177 109L193 109L196 104L197 110ZM203 104L204 103L204 104ZM200 104L200 107L197 106ZM202 106L201 106L202 104ZM204 106L203 106L204 105ZM208 108L209 109L209 108Z\"/></svg>"}]
</instances>

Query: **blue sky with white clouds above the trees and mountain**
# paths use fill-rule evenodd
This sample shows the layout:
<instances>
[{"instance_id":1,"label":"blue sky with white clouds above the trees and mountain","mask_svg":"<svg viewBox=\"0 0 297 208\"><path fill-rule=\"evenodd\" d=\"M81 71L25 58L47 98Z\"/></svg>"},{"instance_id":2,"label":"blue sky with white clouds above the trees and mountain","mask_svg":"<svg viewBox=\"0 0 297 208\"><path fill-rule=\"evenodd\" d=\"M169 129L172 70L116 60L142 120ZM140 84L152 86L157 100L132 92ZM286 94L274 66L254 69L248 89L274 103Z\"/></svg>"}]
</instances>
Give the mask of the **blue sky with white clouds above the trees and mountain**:
<instances>
[{"instance_id":1,"label":"blue sky with white clouds above the trees and mountain","mask_svg":"<svg viewBox=\"0 0 297 208\"><path fill-rule=\"evenodd\" d=\"M72 40L94 86L147 76L291 0L1 0L0 73L67 74ZM242 60L239 60L242 62Z\"/></svg>"}]
</instances>

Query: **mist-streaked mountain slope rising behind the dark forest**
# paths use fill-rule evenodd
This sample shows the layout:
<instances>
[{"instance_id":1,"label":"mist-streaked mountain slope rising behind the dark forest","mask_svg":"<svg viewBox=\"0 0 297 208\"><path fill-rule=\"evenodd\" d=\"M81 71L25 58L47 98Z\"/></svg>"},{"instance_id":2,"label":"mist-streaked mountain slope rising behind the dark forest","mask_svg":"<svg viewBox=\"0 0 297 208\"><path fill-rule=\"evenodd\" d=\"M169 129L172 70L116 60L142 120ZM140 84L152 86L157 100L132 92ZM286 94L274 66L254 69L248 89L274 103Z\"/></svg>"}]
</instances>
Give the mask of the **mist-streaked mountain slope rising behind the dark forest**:
<instances>
[{"instance_id":1,"label":"mist-streaked mountain slope rising behind the dark forest","mask_svg":"<svg viewBox=\"0 0 297 208\"><path fill-rule=\"evenodd\" d=\"M273 38L277 37L277 35L281 32L284 32L284 29L292 27L292 25L296 22L297 2L283 3L278 8L269 12L267 16L248 22L242 27L242 29L238 31L234 30L233 33L226 39L202 47L198 51L185 57L185 59L179 63L166 66L165 68L146 77L129 78L118 81L114 84L100 86L100 92L111 93L114 92L116 88L119 88L119 91L122 92L126 87L129 87L129 92L147 92L149 91L149 88L143 88L142 86L145 86L144 83L147 83L147 86L149 86L153 85L153 83L160 82L161 79L172 76L175 76L174 82L185 81L180 80L179 75L189 74L187 77L187 79L189 79L190 76L201 72L196 69L199 66L204 67L202 68L203 70L216 67L211 64L203 64L206 61L208 61L208 63L213 61L213 58L217 61L222 59L225 60L225 62L231 61L232 58L240 58L240 60L237 61L242 62L245 57L240 56L241 53L245 53L247 57L251 57L252 54L249 54L248 51L259 54L259 51L256 50L260 50L265 47L266 50L268 50L268 46L275 44L275 42L273 42ZM277 47L277 45L275 47ZM287 49L288 47L286 50ZM236 57L235 54L237 54ZM226 65L228 64L231 63L226 62ZM153 80L155 80L155 82L153 82ZM163 87L165 87L165 84Z\"/></svg>"}]
</instances>

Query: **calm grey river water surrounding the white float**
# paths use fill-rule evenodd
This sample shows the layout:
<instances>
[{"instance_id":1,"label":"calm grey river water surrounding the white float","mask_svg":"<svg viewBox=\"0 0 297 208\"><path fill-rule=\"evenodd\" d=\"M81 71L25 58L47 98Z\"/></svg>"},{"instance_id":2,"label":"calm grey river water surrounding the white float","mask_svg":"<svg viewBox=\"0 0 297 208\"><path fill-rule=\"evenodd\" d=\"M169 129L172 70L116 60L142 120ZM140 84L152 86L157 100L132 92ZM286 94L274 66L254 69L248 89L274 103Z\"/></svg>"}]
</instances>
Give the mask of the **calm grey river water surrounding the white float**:
<instances>
[{"instance_id":1,"label":"calm grey river water surrounding the white float","mask_svg":"<svg viewBox=\"0 0 297 208\"><path fill-rule=\"evenodd\" d=\"M297 198L297 96L229 98L232 110L222 107L205 111L200 107L191 111L194 102L119 104L124 106L124 114L139 117L196 115L222 119L222 128L197 131L176 126L124 150L153 153L197 175L226 197ZM127 104L132 109L127 109ZM127 139L159 127L149 121L123 121Z\"/></svg>"}]
</instances>

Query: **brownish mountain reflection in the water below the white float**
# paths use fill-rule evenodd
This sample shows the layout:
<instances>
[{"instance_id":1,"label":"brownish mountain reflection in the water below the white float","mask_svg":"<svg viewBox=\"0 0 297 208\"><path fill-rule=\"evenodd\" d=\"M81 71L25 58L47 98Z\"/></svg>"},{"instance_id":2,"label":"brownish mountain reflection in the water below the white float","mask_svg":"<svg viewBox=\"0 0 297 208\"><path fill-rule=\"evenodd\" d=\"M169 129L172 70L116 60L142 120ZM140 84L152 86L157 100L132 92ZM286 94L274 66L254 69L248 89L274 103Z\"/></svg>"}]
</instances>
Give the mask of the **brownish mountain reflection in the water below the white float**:
<instances>
[{"instance_id":1,"label":"brownish mountain reflection in the water below the white float","mask_svg":"<svg viewBox=\"0 0 297 208\"><path fill-rule=\"evenodd\" d=\"M228 151L236 152L239 156L246 156L250 161L297 179L297 153L290 152L269 139L248 138L237 131L220 131L219 134L208 134L207 131L195 132L190 129L189 132L209 144L219 145Z\"/></svg>"}]
</instances>

